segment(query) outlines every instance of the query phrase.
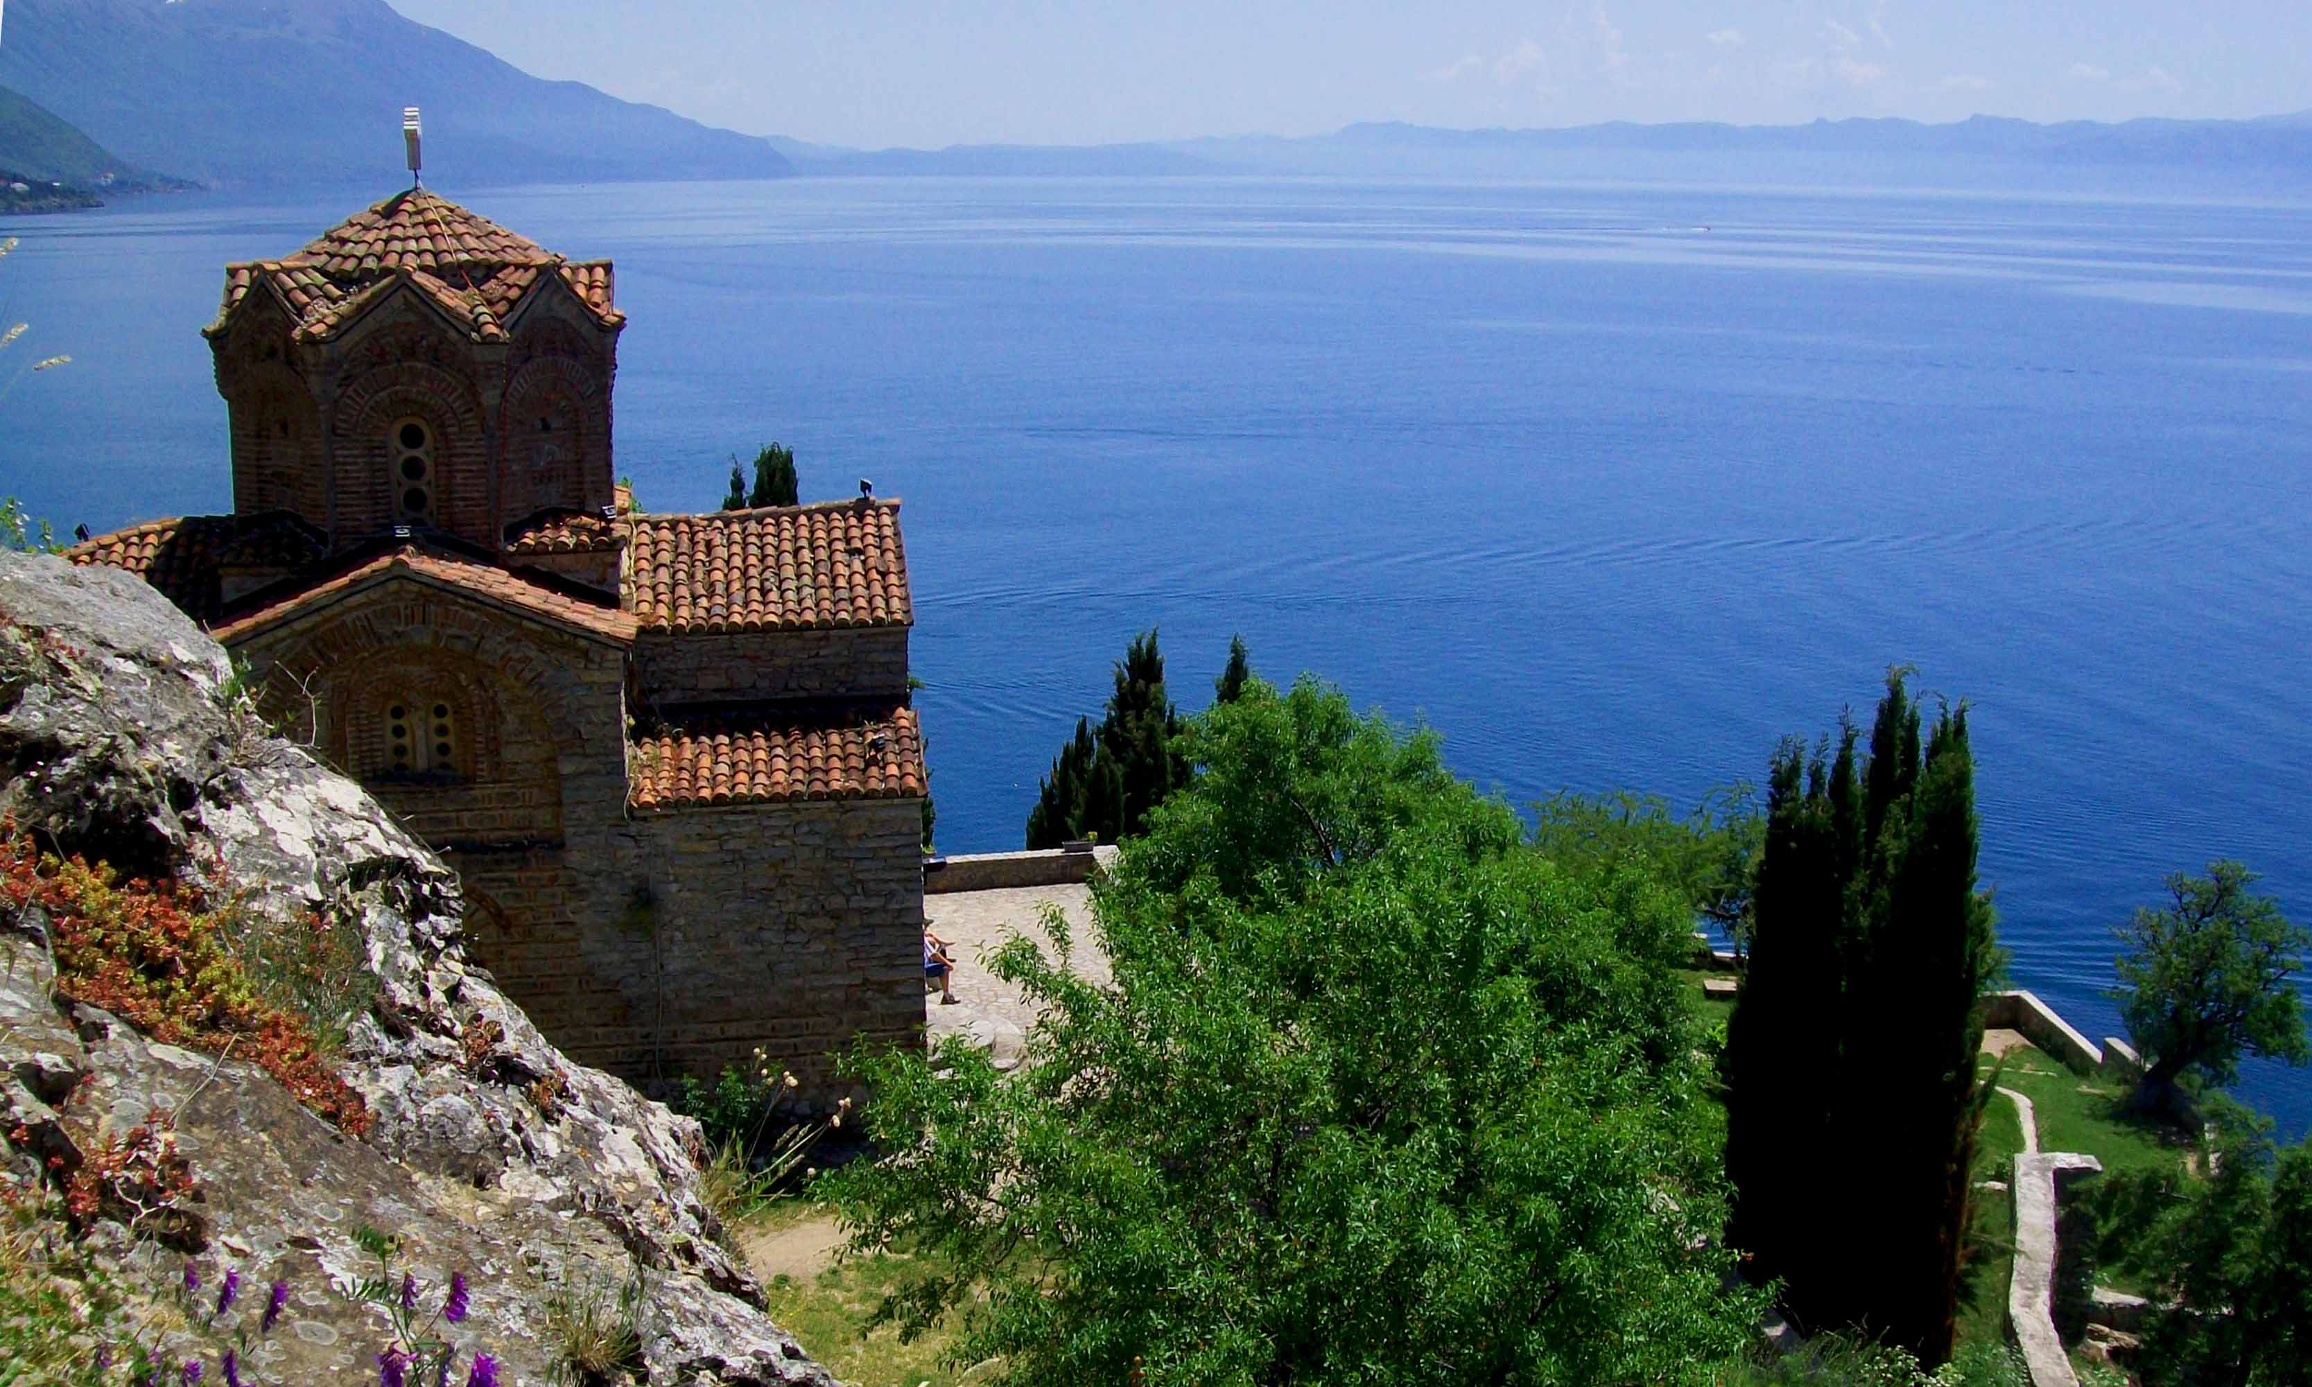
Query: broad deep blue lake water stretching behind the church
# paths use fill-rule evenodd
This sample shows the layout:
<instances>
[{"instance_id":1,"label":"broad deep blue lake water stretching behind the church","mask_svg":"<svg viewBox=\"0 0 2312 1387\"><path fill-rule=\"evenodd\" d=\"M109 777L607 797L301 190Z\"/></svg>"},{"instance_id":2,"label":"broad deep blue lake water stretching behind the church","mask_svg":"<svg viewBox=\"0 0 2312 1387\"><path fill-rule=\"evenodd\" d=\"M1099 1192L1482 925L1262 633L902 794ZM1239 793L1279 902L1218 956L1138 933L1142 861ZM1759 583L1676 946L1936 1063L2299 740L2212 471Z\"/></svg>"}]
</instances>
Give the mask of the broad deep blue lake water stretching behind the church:
<instances>
[{"instance_id":1,"label":"broad deep blue lake water stretching behind the church","mask_svg":"<svg viewBox=\"0 0 2312 1387\"><path fill-rule=\"evenodd\" d=\"M391 187L375 190L377 196ZM705 509L788 442L906 497L946 851L1017 846L1107 663L1242 631L1514 802L1692 802L1972 700L2014 976L2090 1033L2109 927L2233 855L2312 918L2303 206L1279 180L444 190L629 312L617 469ZM25 220L0 490L229 506L197 328L358 194ZM9 363L14 365L14 363ZM5 379L5 377L0 377ZM2312 1075L2245 1096L2312 1123Z\"/></svg>"}]
</instances>

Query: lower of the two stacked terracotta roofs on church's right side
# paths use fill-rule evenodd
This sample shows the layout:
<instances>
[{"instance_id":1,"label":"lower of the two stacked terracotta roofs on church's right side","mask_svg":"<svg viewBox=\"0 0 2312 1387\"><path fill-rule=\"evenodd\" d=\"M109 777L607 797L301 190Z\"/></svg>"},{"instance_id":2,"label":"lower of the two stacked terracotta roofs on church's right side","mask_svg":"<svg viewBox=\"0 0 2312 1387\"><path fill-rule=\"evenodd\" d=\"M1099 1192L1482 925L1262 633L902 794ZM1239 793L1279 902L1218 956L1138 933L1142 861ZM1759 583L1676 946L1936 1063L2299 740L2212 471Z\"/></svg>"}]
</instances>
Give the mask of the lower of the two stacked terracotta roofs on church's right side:
<instances>
[{"instance_id":1,"label":"lower of the two stacked terracotta roofs on church's right side","mask_svg":"<svg viewBox=\"0 0 2312 1387\"><path fill-rule=\"evenodd\" d=\"M714 714L633 740L636 809L922 795L913 707Z\"/></svg>"}]
</instances>

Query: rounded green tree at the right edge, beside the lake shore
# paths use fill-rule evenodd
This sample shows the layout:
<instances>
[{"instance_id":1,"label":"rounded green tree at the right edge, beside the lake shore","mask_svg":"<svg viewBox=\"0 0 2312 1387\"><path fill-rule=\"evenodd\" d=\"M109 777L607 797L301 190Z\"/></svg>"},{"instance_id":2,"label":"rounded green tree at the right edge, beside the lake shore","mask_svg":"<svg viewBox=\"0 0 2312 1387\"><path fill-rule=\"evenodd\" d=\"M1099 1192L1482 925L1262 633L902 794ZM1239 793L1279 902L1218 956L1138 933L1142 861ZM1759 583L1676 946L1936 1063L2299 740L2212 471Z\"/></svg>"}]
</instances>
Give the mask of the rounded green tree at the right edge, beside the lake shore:
<instances>
[{"instance_id":1,"label":"rounded green tree at the right edge, beside the lake shore","mask_svg":"<svg viewBox=\"0 0 2312 1387\"><path fill-rule=\"evenodd\" d=\"M2305 966L2312 929L2254 895L2257 874L2240 862L2210 862L2206 876L2166 878L2171 906L2139 908L2118 927L2127 952L2113 959L2120 1019L2146 1070L2146 1103L2173 1098L2178 1080L2224 1086L2243 1056L2305 1063L2303 999L2294 978Z\"/></svg>"}]
</instances>

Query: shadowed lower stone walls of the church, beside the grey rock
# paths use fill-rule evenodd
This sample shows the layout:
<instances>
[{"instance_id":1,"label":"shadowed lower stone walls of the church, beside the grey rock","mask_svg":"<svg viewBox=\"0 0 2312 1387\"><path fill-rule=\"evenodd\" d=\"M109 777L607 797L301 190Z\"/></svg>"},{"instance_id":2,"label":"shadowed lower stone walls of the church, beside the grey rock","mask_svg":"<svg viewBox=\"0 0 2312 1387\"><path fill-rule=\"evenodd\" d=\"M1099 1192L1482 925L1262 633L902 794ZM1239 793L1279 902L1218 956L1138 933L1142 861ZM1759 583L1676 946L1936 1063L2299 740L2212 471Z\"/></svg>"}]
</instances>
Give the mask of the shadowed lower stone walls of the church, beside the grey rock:
<instances>
[{"instance_id":1,"label":"shadowed lower stone walls of the church, beside the grey rock","mask_svg":"<svg viewBox=\"0 0 2312 1387\"><path fill-rule=\"evenodd\" d=\"M351 728L328 717L338 684L439 661L504 684L472 700L504 719L504 747L479 763L504 779L372 784L455 848L474 962L583 1063L650 1089L763 1047L825 1105L828 1052L855 1036L920 1043L920 800L629 816L624 652L418 583L365 589L238 652L273 675L280 707L319 712L317 744L351 761ZM525 802L548 781L513 774L539 756L560 784L560 837L541 839Z\"/></svg>"}]
</instances>

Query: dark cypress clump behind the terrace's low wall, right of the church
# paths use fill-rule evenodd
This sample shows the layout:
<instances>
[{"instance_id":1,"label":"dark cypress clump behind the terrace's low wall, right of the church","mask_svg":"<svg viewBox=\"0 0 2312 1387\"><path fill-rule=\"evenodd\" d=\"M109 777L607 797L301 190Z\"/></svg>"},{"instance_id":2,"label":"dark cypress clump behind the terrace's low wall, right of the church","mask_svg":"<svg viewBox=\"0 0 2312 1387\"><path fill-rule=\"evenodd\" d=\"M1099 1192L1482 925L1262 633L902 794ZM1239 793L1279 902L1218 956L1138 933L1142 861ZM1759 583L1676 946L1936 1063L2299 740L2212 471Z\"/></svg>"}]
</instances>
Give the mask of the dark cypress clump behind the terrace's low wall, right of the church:
<instances>
[{"instance_id":1,"label":"dark cypress clump behind the terrace's low wall, right of the church","mask_svg":"<svg viewBox=\"0 0 2312 1387\"><path fill-rule=\"evenodd\" d=\"M1077 719L1075 737L1043 777L1027 818L1029 848L1068 839L1117 841L1140 832L1149 811L1188 784L1179 754L1179 710L1163 687L1156 631L1142 631L1114 668L1114 691L1101 726Z\"/></svg>"}]
</instances>

